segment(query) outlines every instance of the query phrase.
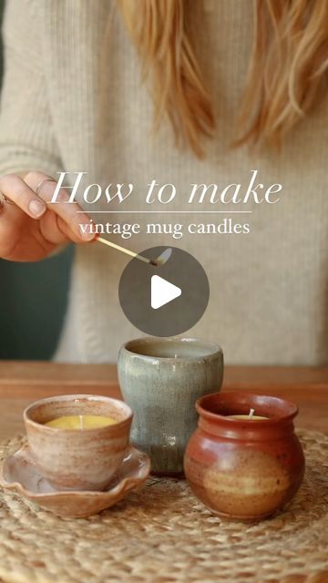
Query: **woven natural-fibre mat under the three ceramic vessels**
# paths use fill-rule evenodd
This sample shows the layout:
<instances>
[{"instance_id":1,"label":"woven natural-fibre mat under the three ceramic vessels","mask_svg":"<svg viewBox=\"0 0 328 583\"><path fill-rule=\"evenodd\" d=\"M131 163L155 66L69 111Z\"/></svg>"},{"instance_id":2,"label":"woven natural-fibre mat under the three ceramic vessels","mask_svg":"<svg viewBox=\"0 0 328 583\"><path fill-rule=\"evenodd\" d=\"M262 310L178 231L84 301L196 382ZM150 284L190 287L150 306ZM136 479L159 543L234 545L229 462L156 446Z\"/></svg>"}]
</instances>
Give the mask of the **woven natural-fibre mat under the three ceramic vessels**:
<instances>
[{"instance_id":1,"label":"woven natural-fibre mat under the three ceramic vessels","mask_svg":"<svg viewBox=\"0 0 328 583\"><path fill-rule=\"evenodd\" d=\"M300 432L301 490L259 524L213 517L185 481L149 478L87 519L56 517L0 489L5 583L327 583L328 435ZM0 445L0 459L22 445Z\"/></svg>"}]
</instances>

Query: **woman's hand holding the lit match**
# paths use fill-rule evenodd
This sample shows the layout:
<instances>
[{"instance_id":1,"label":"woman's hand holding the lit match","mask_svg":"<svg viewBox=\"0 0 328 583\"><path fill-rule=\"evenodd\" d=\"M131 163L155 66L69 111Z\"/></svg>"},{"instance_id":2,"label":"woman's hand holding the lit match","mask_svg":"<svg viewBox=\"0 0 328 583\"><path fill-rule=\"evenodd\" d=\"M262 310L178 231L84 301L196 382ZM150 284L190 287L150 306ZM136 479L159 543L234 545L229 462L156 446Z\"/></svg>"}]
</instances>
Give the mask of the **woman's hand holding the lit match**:
<instances>
[{"instance_id":1,"label":"woman's hand holding the lit match","mask_svg":"<svg viewBox=\"0 0 328 583\"><path fill-rule=\"evenodd\" d=\"M56 203L49 202L56 182L46 180L36 194L37 185L49 179L42 172L0 177L0 193L5 202L0 208L0 258L9 261L38 261L68 241L83 243L95 238L82 234L79 224L89 224L87 213L77 203L67 204L66 189L60 189ZM10 204L13 202L14 204Z\"/></svg>"}]
</instances>

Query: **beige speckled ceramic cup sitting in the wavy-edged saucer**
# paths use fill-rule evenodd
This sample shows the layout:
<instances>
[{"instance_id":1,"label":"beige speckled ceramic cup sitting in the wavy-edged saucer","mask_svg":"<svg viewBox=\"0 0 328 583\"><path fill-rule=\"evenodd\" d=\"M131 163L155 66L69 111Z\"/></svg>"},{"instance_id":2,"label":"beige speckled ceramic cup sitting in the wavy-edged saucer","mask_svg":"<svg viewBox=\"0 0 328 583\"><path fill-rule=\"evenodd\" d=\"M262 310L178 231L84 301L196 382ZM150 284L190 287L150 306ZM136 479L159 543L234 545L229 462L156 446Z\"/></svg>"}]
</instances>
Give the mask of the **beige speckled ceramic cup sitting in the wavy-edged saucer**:
<instances>
[{"instance_id":1,"label":"beige speckled ceramic cup sitting in the wavy-edged saucer","mask_svg":"<svg viewBox=\"0 0 328 583\"><path fill-rule=\"evenodd\" d=\"M45 425L63 415L105 415L117 423L95 429ZM69 394L36 401L24 412L28 445L48 482L61 490L103 490L128 447L133 412L118 399Z\"/></svg>"}]
</instances>

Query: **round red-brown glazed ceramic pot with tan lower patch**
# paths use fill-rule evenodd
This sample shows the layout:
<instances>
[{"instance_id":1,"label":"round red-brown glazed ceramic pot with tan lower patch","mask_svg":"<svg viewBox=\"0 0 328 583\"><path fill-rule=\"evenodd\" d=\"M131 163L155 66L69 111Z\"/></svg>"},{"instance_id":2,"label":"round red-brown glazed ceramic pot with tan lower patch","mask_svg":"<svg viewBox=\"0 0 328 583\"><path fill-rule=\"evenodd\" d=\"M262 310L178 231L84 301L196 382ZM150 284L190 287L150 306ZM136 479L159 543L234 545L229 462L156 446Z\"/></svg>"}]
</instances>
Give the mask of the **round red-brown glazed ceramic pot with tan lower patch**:
<instances>
[{"instance_id":1,"label":"round red-brown glazed ceramic pot with tan lower patch","mask_svg":"<svg viewBox=\"0 0 328 583\"><path fill-rule=\"evenodd\" d=\"M227 415L268 417L261 421ZM184 469L194 494L220 517L260 520L297 492L304 473L302 446L294 434L296 405L276 397L208 394L196 403Z\"/></svg>"}]
</instances>

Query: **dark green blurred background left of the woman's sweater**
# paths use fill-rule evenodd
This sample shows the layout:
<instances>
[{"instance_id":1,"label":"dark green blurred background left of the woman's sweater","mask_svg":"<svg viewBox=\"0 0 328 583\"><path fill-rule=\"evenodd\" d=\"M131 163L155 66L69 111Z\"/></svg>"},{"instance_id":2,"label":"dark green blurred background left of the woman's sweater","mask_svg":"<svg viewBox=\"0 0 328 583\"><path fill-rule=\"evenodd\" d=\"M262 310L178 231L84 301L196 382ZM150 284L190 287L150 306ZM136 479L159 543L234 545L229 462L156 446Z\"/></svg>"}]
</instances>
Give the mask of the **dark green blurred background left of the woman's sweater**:
<instances>
[{"instance_id":1,"label":"dark green blurred background left of the woman's sweater","mask_svg":"<svg viewBox=\"0 0 328 583\"><path fill-rule=\"evenodd\" d=\"M0 0L1 21L4 5ZM2 73L1 46L0 78ZM66 310L73 255L71 246L37 263L0 260L0 359L51 358Z\"/></svg>"}]
</instances>

